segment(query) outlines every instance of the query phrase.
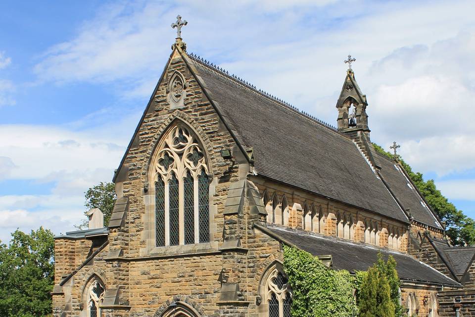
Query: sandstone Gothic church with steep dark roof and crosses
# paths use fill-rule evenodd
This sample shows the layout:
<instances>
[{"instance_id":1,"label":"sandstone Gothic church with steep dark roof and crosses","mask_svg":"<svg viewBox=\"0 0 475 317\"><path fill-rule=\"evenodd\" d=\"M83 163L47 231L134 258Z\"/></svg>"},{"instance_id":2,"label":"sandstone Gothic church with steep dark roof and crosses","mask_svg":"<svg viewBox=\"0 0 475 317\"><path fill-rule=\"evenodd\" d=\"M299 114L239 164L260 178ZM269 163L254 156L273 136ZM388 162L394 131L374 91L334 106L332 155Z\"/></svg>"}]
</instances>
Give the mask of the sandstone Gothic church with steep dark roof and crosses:
<instances>
[{"instance_id":1,"label":"sandstone Gothic church with steep dark roof and crosses","mask_svg":"<svg viewBox=\"0 0 475 317\"><path fill-rule=\"evenodd\" d=\"M55 237L53 316L290 317L283 245L350 272L392 255L407 316L475 316L475 248L373 147L354 59L332 127L187 53L177 18L108 226Z\"/></svg>"}]
</instances>

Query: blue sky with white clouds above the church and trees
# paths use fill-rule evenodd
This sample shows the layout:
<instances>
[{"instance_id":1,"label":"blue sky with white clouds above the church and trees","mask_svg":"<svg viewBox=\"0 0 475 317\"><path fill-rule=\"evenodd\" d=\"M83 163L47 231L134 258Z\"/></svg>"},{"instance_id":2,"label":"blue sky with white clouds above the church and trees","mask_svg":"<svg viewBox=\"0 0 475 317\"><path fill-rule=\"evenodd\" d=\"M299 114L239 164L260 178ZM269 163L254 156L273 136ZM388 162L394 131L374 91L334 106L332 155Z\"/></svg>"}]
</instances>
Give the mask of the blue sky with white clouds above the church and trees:
<instances>
[{"instance_id":1,"label":"blue sky with white clouds above the church and trees","mask_svg":"<svg viewBox=\"0 0 475 317\"><path fill-rule=\"evenodd\" d=\"M110 181L170 54L189 52L335 124L343 60L372 140L401 144L475 217L472 1L7 1L0 3L0 240L74 229Z\"/></svg>"}]
</instances>

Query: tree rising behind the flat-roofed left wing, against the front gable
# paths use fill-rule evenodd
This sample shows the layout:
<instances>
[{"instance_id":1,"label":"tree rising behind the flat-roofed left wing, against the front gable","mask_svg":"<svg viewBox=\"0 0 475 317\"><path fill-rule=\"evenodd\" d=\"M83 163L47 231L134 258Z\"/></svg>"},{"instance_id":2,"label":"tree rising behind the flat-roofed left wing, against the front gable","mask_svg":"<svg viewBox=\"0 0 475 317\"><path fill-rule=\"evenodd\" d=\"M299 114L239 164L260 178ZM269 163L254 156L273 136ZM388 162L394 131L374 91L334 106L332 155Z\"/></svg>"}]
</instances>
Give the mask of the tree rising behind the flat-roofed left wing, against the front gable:
<instances>
[{"instance_id":1,"label":"tree rising behind the flat-roofed left wing, against the front gable","mask_svg":"<svg viewBox=\"0 0 475 317\"><path fill-rule=\"evenodd\" d=\"M87 210L98 208L104 214L104 226L109 224L109 219L114 210L115 200L115 185L110 182L100 182L99 184L89 188L85 193L86 201L84 206ZM79 229L88 226L88 220L85 219L79 226Z\"/></svg>"}]
</instances>

